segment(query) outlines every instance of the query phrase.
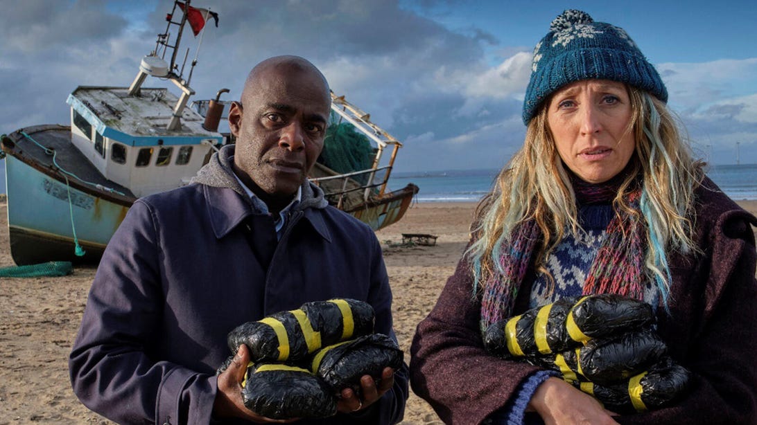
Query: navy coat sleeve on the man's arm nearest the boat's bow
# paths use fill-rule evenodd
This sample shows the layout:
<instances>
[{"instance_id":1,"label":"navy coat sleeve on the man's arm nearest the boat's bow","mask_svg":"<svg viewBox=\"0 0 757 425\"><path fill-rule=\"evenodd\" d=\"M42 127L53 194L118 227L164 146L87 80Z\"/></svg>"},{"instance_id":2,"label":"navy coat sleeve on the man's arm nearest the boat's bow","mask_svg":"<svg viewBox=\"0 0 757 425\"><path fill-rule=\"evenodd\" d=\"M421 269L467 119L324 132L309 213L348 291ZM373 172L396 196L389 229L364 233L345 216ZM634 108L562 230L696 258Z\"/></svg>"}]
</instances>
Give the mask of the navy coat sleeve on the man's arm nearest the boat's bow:
<instances>
[{"instance_id":1,"label":"navy coat sleeve on the man's arm nearest the boat's bow","mask_svg":"<svg viewBox=\"0 0 757 425\"><path fill-rule=\"evenodd\" d=\"M156 235L151 209L138 200L92 282L69 358L73 391L118 423L208 423L216 378L150 355L165 303Z\"/></svg>"}]
</instances>

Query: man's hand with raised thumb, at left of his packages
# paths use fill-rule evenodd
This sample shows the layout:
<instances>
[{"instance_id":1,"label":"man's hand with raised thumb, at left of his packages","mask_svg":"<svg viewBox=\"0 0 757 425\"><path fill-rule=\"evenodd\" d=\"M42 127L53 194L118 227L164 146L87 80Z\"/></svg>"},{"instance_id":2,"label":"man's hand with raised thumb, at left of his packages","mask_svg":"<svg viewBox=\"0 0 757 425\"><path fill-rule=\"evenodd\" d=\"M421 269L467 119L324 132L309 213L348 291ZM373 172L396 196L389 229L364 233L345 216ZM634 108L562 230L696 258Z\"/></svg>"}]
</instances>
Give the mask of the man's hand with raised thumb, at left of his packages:
<instances>
[{"instance_id":1,"label":"man's hand with raised thumb, at left of his packages","mask_svg":"<svg viewBox=\"0 0 757 425\"><path fill-rule=\"evenodd\" d=\"M213 402L213 416L241 417L256 423L290 423L299 418L271 419L260 416L245 407L241 399L241 381L245 379L250 353L247 346L242 344L234 355L234 359L226 371L218 375L218 391Z\"/></svg>"}]
</instances>

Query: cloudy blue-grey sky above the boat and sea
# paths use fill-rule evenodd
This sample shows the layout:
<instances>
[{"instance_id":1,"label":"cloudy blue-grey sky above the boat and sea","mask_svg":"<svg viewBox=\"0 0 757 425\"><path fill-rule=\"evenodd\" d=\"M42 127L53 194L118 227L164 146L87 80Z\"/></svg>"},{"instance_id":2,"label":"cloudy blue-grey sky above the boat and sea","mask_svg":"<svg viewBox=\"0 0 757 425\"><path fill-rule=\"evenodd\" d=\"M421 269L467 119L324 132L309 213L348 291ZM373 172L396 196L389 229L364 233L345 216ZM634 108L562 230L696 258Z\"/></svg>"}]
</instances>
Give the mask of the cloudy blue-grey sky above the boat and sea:
<instances>
[{"instance_id":1,"label":"cloudy blue-grey sky above the boat and sea","mask_svg":"<svg viewBox=\"0 0 757 425\"><path fill-rule=\"evenodd\" d=\"M627 5L625 3L628 3ZM621 5L622 4L622 5ZM0 132L67 123L77 85L128 86L170 0L0 0ZM276 54L310 59L334 92L404 142L397 171L499 168L522 143L531 51L565 8L626 29L656 65L696 152L757 163L754 0L193 0L194 99L238 98ZM188 62L194 57L191 51ZM157 80L149 80L145 86ZM158 84L159 85L159 84Z\"/></svg>"}]
</instances>

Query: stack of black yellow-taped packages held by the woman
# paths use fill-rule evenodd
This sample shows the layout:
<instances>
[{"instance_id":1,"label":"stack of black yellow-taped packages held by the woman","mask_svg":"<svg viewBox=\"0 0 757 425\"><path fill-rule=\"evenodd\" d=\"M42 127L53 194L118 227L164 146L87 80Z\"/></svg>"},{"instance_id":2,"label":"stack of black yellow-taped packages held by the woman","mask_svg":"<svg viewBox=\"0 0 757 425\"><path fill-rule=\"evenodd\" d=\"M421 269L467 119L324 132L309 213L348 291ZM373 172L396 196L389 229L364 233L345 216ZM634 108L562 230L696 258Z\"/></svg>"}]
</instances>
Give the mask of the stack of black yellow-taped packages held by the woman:
<instances>
[{"instance_id":1,"label":"stack of black yellow-taped packages held by the woman","mask_svg":"<svg viewBox=\"0 0 757 425\"><path fill-rule=\"evenodd\" d=\"M657 336L652 307L614 294L564 298L491 324L484 345L559 372L618 413L668 405L689 381Z\"/></svg>"}]
</instances>

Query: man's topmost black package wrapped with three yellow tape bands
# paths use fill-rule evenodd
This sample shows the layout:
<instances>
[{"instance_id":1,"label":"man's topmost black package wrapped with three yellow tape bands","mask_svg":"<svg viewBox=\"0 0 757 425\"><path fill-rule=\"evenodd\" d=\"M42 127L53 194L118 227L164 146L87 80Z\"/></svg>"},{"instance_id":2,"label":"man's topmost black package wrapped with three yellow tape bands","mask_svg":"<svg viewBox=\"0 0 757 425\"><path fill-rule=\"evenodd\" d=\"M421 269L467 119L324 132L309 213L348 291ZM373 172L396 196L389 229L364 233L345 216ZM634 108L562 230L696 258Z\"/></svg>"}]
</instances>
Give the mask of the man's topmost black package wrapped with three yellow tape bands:
<instances>
[{"instance_id":1,"label":"man's topmost black package wrapped with three yellow tape bands","mask_svg":"<svg viewBox=\"0 0 757 425\"><path fill-rule=\"evenodd\" d=\"M300 361L316 350L373 332L372 306L356 299L306 302L300 309L277 312L229 332L232 352L245 344L251 360Z\"/></svg>"}]
</instances>

